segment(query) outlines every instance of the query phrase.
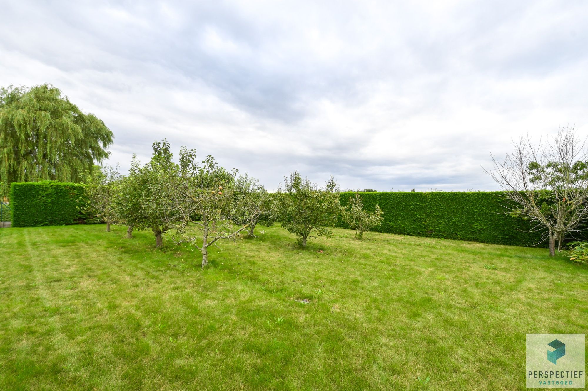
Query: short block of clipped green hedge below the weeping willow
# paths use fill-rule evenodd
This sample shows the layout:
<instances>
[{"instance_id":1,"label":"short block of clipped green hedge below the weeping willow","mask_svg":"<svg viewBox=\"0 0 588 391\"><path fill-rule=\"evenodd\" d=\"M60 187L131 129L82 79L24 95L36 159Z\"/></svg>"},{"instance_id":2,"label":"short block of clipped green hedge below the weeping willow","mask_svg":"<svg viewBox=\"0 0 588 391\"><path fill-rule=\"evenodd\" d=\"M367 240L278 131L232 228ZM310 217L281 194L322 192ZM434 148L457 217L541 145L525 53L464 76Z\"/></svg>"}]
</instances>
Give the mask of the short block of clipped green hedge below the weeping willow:
<instances>
[{"instance_id":1,"label":"short block of clipped green hedge below the weeping willow","mask_svg":"<svg viewBox=\"0 0 588 391\"><path fill-rule=\"evenodd\" d=\"M12 183L12 226L37 227L84 223L88 217L79 210L83 204L83 193L84 186L79 183Z\"/></svg>"}]
</instances>

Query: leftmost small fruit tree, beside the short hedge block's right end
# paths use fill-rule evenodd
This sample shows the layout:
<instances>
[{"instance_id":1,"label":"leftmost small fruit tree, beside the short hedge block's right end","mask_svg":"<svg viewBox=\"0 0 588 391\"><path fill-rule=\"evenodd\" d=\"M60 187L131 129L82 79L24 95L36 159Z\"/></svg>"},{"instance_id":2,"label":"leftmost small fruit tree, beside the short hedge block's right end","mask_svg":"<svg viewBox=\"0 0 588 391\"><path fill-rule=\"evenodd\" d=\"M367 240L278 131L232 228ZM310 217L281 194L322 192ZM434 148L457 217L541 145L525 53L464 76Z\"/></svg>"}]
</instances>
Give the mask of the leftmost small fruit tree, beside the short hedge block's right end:
<instances>
[{"instance_id":1,"label":"leftmost small fruit tree, beside the short hedge block's right end","mask_svg":"<svg viewBox=\"0 0 588 391\"><path fill-rule=\"evenodd\" d=\"M105 221L106 232L110 232L111 224L116 222L117 215L113 200L116 187L121 179L118 165L116 167L95 166L94 170L85 178L86 203L84 211Z\"/></svg>"}]
</instances>

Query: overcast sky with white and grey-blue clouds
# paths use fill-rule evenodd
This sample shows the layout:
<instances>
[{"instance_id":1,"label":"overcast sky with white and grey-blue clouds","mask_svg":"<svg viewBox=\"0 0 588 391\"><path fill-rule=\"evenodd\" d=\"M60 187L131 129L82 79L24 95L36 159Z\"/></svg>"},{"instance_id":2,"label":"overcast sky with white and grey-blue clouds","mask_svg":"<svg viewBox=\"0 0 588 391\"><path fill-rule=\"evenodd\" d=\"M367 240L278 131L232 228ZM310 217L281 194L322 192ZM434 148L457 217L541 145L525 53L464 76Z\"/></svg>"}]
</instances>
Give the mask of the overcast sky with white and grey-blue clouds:
<instances>
[{"instance_id":1,"label":"overcast sky with white and grey-blue clouds","mask_svg":"<svg viewBox=\"0 0 588 391\"><path fill-rule=\"evenodd\" d=\"M115 134L278 187L495 190L510 140L588 133L588 3L0 0L0 85L51 83Z\"/></svg>"}]
</instances>

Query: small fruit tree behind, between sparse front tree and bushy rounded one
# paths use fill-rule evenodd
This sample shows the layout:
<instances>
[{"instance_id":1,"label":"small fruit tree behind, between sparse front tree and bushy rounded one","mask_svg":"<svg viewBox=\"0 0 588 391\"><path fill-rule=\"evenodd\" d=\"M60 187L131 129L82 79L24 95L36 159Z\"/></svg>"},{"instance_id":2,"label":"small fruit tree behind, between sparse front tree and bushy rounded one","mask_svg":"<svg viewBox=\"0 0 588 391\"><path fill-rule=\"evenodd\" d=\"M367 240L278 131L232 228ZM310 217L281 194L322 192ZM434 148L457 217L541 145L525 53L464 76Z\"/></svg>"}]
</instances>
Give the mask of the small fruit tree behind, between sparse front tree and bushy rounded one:
<instances>
[{"instance_id":1,"label":"small fruit tree behind, between sparse front tree and bushy rounded one","mask_svg":"<svg viewBox=\"0 0 588 391\"><path fill-rule=\"evenodd\" d=\"M272 202L268 191L259 184L259 180L240 175L235 180L235 218L237 224L249 224L249 236L255 236L255 226L258 223L271 225Z\"/></svg>"}]
</instances>

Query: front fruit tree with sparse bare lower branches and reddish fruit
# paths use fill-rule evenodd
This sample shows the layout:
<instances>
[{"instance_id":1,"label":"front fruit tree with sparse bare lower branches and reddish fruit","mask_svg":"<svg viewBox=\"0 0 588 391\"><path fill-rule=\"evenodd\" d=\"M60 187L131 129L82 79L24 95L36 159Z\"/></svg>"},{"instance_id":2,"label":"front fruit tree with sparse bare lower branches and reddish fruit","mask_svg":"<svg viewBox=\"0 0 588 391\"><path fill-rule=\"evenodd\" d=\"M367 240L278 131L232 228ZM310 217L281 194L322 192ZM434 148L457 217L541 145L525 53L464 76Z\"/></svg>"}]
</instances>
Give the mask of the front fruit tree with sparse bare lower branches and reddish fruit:
<instances>
[{"instance_id":1,"label":"front fruit tree with sparse bare lower branches and reddish fruit","mask_svg":"<svg viewBox=\"0 0 588 391\"><path fill-rule=\"evenodd\" d=\"M158 147L154 148L157 152ZM162 219L175 230L177 244L184 242L198 248L205 267L211 245L220 240L235 240L250 224L236 223L240 215L234 201L236 170L228 178L228 171L219 167L212 156L207 156L201 166L196 150L185 148L181 149L179 160L179 174L168 176L165 182L171 213Z\"/></svg>"}]
</instances>

